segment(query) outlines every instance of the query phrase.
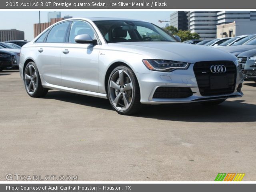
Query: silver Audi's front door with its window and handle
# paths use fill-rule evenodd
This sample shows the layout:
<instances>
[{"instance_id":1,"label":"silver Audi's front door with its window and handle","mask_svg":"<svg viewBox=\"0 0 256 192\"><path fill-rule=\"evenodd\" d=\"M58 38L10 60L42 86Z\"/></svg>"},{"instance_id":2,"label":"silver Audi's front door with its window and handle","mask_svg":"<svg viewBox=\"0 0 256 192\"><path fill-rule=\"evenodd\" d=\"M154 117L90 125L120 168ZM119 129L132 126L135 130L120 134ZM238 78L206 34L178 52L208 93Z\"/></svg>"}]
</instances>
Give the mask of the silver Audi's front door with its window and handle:
<instances>
[{"instance_id":1,"label":"silver Audi's front door with its window and handle","mask_svg":"<svg viewBox=\"0 0 256 192\"><path fill-rule=\"evenodd\" d=\"M98 92L98 55L101 45L76 43L74 38L80 34L96 38L89 23L72 23L68 42L61 51L62 86Z\"/></svg>"}]
</instances>

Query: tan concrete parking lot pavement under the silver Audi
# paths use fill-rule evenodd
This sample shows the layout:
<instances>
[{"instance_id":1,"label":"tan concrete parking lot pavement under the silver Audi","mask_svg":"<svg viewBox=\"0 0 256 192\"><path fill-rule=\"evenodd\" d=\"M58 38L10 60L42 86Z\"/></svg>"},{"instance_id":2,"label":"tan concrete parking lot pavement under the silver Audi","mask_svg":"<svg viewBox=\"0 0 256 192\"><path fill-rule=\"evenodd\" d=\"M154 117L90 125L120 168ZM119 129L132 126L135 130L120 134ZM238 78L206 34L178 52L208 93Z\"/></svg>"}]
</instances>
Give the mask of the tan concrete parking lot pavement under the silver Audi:
<instances>
[{"instance_id":1,"label":"tan concrete parking lot pavement under the silver Audi","mask_svg":"<svg viewBox=\"0 0 256 192\"><path fill-rule=\"evenodd\" d=\"M6 174L80 181L256 180L256 83L219 106L145 106L118 115L108 100L50 90L31 98L18 70L0 72L0 180Z\"/></svg>"}]
</instances>

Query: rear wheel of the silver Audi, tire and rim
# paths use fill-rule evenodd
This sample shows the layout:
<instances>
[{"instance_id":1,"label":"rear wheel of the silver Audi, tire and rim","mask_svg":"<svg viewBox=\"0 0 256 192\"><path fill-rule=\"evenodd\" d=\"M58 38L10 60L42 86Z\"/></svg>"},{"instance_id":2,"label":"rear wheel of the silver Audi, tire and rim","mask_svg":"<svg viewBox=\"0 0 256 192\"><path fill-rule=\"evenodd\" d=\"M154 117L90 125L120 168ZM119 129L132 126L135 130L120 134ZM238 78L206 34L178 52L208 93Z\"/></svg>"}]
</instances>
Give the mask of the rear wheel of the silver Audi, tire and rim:
<instances>
[{"instance_id":1,"label":"rear wheel of the silver Audi, tire and rim","mask_svg":"<svg viewBox=\"0 0 256 192\"><path fill-rule=\"evenodd\" d=\"M34 62L29 62L24 70L26 92L31 97L44 97L48 89L43 88L38 68Z\"/></svg>"}]
</instances>

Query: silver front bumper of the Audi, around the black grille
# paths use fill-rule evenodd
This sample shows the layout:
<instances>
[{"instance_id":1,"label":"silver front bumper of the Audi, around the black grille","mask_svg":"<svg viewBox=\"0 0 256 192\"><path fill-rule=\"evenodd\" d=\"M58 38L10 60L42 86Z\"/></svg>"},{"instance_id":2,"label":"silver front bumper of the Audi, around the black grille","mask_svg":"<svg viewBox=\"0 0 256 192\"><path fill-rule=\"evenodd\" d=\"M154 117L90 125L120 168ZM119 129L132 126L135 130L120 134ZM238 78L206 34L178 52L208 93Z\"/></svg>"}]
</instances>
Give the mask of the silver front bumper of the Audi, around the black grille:
<instances>
[{"instance_id":1,"label":"silver front bumper of the Audi, around the black grille","mask_svg":"<svg viewBox=\"0 0 256 192\"><path fill-rule=\"evenodd\" d=\"M186 70L174 70L173 72L150 71L149 74L136 73L140 85L140 102L143 104L188 103L243 96L243 93L239 89L237 90L238 85L241 85L244 81L241 70L237 70L234 92L202 96L198 88L193 66L194 64L190 64ZM153 98L158 87L186 87L190 88L193 94L186 98Z\"/></svg>"}]
</instances>

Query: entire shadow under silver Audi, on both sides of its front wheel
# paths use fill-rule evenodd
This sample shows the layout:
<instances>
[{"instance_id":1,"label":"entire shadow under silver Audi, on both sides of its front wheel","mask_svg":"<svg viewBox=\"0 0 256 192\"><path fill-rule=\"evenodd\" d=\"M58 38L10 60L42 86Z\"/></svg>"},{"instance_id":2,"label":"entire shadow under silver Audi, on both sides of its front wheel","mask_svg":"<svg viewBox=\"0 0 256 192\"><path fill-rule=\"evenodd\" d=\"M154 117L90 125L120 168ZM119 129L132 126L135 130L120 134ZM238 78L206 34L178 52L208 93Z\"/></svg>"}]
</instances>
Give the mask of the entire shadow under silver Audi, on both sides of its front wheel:
<instances>
[{"instance_id":1,"label":"entire shadow under silver Audi, on both sides of its front wheel","mask_svg":"<svg viewBox=\"0 0 256 192\"><path fill-rule=\"evenodd\" d=\"M44 98L113 110L107 99L80 94L53 90ZM181 122L255 122L255 112L254 104L248 104L245 100L228 100L217 106L204 106L199 103L144 105L133 116Z\"/></svg>"}]
</instances>

